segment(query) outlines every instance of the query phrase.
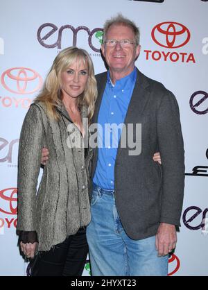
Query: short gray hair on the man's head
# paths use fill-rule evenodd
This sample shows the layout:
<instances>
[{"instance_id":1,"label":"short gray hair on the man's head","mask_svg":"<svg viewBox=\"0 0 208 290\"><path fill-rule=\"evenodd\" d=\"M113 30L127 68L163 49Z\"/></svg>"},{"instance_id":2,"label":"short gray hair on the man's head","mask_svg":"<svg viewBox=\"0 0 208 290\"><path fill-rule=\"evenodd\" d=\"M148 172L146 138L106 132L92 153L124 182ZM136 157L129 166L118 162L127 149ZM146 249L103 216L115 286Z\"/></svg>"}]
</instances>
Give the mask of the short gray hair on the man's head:
<instances>
[{"instance_id":1,"label":"short gray hair on the man's head","mask_svg":"<svg viewBox=\"0 0 208 290\"><path fill-rule=\"evenodd\" d=\"M139 28L137 27L135 22L132 22L130 19L123 17L123 15L121 14L118 14L115 17L111 17L110 19L106 20L103 27L103 42L105 42L105 35L108 29L110 28L110 26L117 25L117 24L132 28L133 33L135 33L136 44L137 45L139 44L139 35L140 35Z\"/></svg>"}]
</instances>

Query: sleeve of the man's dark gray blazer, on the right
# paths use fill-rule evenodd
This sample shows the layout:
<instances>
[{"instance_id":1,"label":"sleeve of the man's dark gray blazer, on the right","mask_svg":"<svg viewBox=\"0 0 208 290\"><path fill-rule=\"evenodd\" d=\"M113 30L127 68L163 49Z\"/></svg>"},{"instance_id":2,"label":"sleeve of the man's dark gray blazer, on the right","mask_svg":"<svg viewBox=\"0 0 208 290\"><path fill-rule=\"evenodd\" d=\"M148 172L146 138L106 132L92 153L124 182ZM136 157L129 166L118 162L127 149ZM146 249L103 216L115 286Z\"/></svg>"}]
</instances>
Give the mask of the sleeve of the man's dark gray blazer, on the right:
<instances>
[{"instance_id":1,"label":"sleeve of the man's dark gray blazer, on the right","mask_svg":"<svg viewBox=\"0 0 208 290\"><path fill-rule=\"evenodd\" d=\"M184 196L184 143L177 101L168 90L157 111L157 141L162 159L160 222L180 225Z\"/></svg>"}]
</instances>

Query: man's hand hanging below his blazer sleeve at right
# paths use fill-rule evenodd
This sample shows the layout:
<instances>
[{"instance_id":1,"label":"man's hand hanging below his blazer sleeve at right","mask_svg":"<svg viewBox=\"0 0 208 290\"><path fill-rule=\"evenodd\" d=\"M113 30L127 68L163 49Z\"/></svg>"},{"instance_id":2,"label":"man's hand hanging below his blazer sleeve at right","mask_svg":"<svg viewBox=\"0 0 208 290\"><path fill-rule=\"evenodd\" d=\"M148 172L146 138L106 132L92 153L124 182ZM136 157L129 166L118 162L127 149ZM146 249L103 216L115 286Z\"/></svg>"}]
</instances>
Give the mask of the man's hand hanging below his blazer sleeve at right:
<instances>
[{"instance_id":1,"label":"man's hand hanging below his blazer sleeve at right","mask_svg":"<svg viewBox=\"0 0 208 290\"><path fill-rule=\"evenodd\" d=\"M168 255L176 246L177 234L175 225L160 223L156 234L156 248L158 256Z\"/></svg>"}]
</instances>

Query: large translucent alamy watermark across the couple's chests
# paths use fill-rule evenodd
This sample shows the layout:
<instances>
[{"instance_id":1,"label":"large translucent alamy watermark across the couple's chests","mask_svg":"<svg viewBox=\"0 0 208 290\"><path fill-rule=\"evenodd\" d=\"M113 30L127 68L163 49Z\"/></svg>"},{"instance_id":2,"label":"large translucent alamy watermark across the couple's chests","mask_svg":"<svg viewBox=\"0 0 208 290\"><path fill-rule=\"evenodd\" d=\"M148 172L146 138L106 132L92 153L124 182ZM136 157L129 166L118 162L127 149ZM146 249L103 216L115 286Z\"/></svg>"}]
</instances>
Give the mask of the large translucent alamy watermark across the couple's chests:
<instances>
[{"instance_id":1,"label":"large translucent alamy watermark across the couple's chests","mask_svg":"<svg viewBox=\"0 0 208 290\"><path fill-rule=\"evenodd\" d=\"M83 118L85 137L76 133L77 127L73 123L67 126L67 146L69 148L128 148L128 155L141 153L141 123L92 123L88 126L88 119ZM104 138L103 138L104 137ZM120 144L120 145L119 145Z\"/></svg>"}]
</instances>

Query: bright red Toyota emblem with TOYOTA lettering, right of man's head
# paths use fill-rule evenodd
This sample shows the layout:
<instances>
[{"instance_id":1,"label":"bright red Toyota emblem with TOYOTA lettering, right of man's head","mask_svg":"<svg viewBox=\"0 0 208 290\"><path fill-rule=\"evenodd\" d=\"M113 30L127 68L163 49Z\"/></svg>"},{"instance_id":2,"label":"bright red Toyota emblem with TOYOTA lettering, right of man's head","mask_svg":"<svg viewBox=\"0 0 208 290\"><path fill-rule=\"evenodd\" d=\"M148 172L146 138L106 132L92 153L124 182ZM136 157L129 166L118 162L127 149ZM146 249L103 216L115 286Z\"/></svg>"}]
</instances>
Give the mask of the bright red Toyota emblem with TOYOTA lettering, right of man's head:
<instances>
[{"instance_id":1,"label":"bright red Toyota emblem with TOYOTA lettering, right of man's head","mask_svg":"<svg viewBox=\"0 0 208 290\"><path fill-rule=\"evenodd\" d=\"M146 60L152 58L152 60L156 61L196 62L193 53L173 51L173 49L185 46L191 38L189 29L183 24L178 22L159 23L153 28L151 37L158 46L171 49L171 51L144 50Z\"/></svg>"}]
</instances>

